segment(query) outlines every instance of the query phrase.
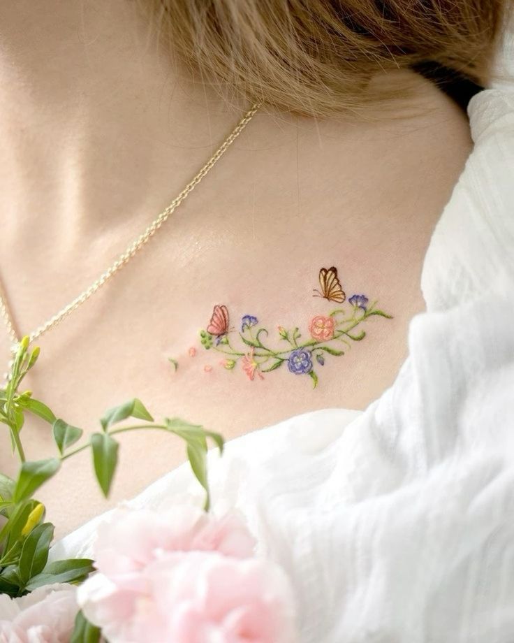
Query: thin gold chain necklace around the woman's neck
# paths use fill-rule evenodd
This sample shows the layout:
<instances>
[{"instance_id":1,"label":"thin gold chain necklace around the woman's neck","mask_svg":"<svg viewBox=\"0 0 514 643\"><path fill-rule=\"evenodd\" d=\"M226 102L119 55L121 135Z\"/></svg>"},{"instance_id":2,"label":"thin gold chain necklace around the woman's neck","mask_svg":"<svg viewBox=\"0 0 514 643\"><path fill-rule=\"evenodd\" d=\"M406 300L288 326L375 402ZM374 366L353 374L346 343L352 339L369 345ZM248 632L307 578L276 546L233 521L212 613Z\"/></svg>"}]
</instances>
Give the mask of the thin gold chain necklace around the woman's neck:
<instances>
[{"instance_id":1,"label":"thin gold chain necklace around the woman's neck","mask_svg":"<svg viewBox=\"0 0 514 643\"><path fill-rule=\"evenodd\" d=\"M191 194L193 189L200 183L200 181L205 177L205 175L212 169L212 167L216 164L217 161L223 156L223 154L226 152L228 149L229 145L233 143L233 141L237 138L237 136L240 135L240 133L243 131L244 127L249 123L251 118L254 116L258 108L260 107L261 103L256 103L254 106L251 107L251 109L248 110L248 112L242 117L240 122L237 123L233 131L230 132L230 134L227 136L227 138L223 141L221 146L212 154L212 157L207 161L207 163L201 168L201 170L198 172L198 174L191 180L191 182L186 185L186 187L180 192L180 194L173 199L173 201L168 205L168 207L163 210L157 217L154 219L154 221L147 226L147 229L138 236L129 247L125 250L123 254L120 254L119 257L116 259L114 263L112 263L107 270L105 270L99 277L98 279L92 283L89 288L87 288L85 291L82 291L78 297L75 297L73 301L68 303L68 305L64 306L64 308L61 308L59 312L57 312L53 317L50 317L47 321L45 321L44 324L41 324L41 326L38 326L36 330L32 331L29 333L29 339L30 341L34 341L36 338L40 337L43 335L43 333L46 333L47 331L50 330L50 328L54 328L54 326L57 326L60 321L62 321L65 317L68 317L68 315L73 312L73 310L77 310L77 308L87 301L89 297L94 295L96 291L103 286L110 278L115 275L125 264L132 259L132 257L140 250L147 241L154 236L156 231L159 230L159 228L162 226L164 222L166 222L166 219L172 214L172 212L175 211L175 208L177 208L184 199ZM17 344L20 342L20 337L16 333L15 330L15 322L14 322L14 317L11 314L8 304L7 304L7 299L5 294L3 293L1 289L1 284L0 284L0 315L3 317L3 321L6 324L7 332L9 335L9 338L11 342L13 343L12 350L13 352L16 352L17 350Z\"/></svg>"}]
</instances>

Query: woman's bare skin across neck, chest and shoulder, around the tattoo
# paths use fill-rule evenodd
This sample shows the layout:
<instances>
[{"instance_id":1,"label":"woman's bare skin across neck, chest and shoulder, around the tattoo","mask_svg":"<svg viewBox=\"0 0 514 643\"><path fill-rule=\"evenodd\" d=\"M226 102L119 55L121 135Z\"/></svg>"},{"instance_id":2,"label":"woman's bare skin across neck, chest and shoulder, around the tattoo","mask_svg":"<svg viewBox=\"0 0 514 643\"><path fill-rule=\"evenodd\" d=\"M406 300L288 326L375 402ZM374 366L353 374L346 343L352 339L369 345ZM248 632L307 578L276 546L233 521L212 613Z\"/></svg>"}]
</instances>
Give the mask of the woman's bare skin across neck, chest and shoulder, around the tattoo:
<instances>
[{"instance_id":1,"label":"woman's bare skin across neck, chest and shoulder, around the tattoo","mask_svg":"<svg viewBox=\"0 0 514 643\"><path fill-rule=\"evenodd\" d=\"M20 333L93 282L244 112L145 46L145 29L122 0L0 8L0 275ZM157 418L184 417L227 439L323 407L364 410L406 359L409 321L425 310L429 239L471 152L466 115L417 82L417 98L434 110L413 120L258 113L145 250L38 340L27 387L87 433L105 408L133 396ZM378 298L394 319L370 320L365 341L326 361L317 389L285 368L250 381L200 352L198 330L216 303L228 305L234 326L251 314L306 332L332 308L311 296L319 268L332 265L348 296ZM6 360L8 347L0 334ZM24 432L29 458L54 454L43 422ZM60 535L184 460L168 435L120 441L108 502L89 454L43 489ZM15 470L6 433L0 470Z\"/></svg>"}]
</instances>

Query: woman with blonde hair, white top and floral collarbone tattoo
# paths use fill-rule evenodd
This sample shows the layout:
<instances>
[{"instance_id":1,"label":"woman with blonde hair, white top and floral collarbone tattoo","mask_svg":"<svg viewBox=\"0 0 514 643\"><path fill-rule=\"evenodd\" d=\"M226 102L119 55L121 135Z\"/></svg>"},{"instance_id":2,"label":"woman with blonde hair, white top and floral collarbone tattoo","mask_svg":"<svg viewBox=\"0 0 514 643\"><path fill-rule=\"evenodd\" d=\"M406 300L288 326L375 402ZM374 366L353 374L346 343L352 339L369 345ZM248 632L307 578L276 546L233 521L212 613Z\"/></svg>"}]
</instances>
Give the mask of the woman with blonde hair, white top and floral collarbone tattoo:
<instances>
[{"instance_id":1,"label":"woman with blonde hair, white top and floral collarbone tattoo","mask_svg":"<svg viewBox=\"0 0 514 643\"><path fill-rule=\"evenodd\" d=\"M166 2L159 39L140 5L1 9L1 275L19 333L94 282L263 106L145 252L41 337L27 386L91 431L134 394L226 438L269 425L230 445L214 488L286 566L304 640L508 640L511 612L476 619L512 595L499 568L512 407L497 399L506 380L486 377L512 369L512 224L503 197L487 223L467 203L487 164L470 156L466 113L474 92L477 137L493 116L512 123L503 94L503 112L480 113L507 4ZM462 174L471 158L478 178ZM342 305L385 315L324 351ZM234 347L258 328L275 359L265 332L262 347ZM318 343L296 352L306 337ZM168 442L124 440L112 503L181 461ZM50 453L43 427L31 446ZM105 505L87 458L64 475L41 500L70 531ZM498 496L475 514L488 480ZM87 551L87 529L61 547ZM494 533L503 547L486 550Z\"/></svg>"}]
</instances>

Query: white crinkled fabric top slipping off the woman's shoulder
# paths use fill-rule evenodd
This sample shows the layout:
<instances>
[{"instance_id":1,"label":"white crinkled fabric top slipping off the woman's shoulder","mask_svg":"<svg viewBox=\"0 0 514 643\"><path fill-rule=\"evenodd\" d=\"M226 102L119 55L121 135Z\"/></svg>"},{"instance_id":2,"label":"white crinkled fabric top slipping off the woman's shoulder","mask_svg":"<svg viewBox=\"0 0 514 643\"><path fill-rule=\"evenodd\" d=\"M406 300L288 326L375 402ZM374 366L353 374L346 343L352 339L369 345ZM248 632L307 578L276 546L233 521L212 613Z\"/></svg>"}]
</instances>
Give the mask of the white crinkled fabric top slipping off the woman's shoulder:
<instances>
[{"instance_id":1,"label":"white crinkled fabric top slipping off the woman's shoulder","mask_svg":"<svg viewBox=\"0 0 514 643\"><path fill-rule=\"evenodd\" d=\"M288 573L301 643L514 642L514 38L473 96L475 143L425 257L427 312L365 412L328 409L210 453ZM182 465L131 500L198 496ZM104 514L105 515L105 514ZM91 555L98 520L52 549Z\"/></svg>"}]
</instances>

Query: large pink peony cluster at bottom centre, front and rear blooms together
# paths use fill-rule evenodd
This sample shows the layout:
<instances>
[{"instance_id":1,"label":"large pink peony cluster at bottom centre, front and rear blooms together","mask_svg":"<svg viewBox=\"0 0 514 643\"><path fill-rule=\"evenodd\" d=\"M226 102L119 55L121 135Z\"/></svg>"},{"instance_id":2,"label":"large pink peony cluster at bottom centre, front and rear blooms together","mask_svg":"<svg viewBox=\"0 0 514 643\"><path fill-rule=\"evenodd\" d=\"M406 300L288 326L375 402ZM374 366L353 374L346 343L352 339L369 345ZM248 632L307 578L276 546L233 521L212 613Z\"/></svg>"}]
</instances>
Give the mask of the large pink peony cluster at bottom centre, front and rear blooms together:
<instances>
[{"instance_id":1,"label":"large pink peony cluster at bottom centre, front and rear blooms together","mask_svg":"<svg viewBox=\"0 0 514 643\"><path fill-rule=\"evenodd\" d=\"M253 549L235 514L121 508L98 529L78 603L110 643L291 643L286 576Z\"/></svg>"}]
</instances>

